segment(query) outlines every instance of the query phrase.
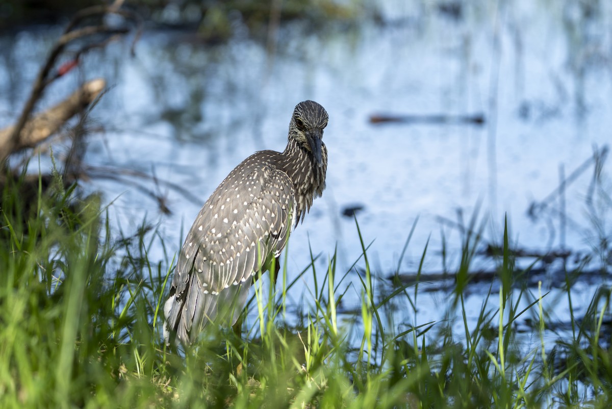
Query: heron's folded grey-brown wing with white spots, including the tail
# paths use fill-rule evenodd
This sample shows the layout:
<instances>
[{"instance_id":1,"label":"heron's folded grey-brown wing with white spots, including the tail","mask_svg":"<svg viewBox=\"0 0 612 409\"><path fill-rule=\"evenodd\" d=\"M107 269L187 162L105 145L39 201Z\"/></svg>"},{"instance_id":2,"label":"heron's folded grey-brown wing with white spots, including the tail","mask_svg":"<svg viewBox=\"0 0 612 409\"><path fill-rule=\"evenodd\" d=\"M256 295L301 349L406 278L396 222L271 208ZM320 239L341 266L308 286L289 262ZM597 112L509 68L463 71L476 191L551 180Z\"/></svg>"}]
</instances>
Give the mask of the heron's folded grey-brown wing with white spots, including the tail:
<instances>
[{"instance_id":1,"label":"heron's folded grey-brown wing with white spots, including the tail","mask_svg":"<svg viewBox=\"0 0 612 409\"><path fill-rule=\"evenodd\" d=\"M285 247L295 197L289 176L272 164L274 154L257 152L236 167L185 239L164 308L168 328L183 342L193 342L210 320L233 325L253 274Z\"/></svg>"}]
</instances>

